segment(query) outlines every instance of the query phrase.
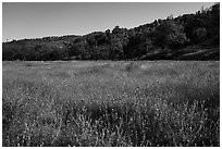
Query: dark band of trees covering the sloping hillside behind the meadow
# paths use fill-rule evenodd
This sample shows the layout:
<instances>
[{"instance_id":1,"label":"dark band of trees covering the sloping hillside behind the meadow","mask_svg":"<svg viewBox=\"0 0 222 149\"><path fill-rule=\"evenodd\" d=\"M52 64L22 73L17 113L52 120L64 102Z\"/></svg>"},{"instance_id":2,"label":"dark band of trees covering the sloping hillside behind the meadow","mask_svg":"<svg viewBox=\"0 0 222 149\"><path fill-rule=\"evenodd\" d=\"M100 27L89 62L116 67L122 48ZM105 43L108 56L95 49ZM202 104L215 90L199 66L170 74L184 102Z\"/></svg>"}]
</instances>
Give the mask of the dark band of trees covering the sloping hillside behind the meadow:
<instances>
[{"instance_id":1,"label":"dark band of trees covering the sloping hillside behind the meadow","mask_svg":"<svg viewBox=\"0 0 222 149\"><path fill-rule=\"evenodd\" d=\"M2 60L177 60L180 49L201 44L220 45L220 3L131 29L3 42Z\"/></svg>"}]
</instances>

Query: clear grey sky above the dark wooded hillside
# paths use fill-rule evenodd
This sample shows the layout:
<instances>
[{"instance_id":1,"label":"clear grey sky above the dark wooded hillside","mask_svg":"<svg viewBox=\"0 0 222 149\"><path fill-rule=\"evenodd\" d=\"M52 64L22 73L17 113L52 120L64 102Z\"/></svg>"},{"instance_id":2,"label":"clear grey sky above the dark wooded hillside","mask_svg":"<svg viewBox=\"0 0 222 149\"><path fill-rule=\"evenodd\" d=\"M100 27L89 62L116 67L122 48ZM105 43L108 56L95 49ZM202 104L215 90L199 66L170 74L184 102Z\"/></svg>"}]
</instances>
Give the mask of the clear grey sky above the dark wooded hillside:
<instances>
[{"instance_id":1,"label":"clear grey sky above the dark wooded hillside","mask_svg":"<svg viewBox=\"0 0 222 149\"><path fill-rule=\"evenodd\" d=\"M3 2L2 40L86 35L133 28L157 18L195 13L212 2Z\"/></svg>"}]
</instances>

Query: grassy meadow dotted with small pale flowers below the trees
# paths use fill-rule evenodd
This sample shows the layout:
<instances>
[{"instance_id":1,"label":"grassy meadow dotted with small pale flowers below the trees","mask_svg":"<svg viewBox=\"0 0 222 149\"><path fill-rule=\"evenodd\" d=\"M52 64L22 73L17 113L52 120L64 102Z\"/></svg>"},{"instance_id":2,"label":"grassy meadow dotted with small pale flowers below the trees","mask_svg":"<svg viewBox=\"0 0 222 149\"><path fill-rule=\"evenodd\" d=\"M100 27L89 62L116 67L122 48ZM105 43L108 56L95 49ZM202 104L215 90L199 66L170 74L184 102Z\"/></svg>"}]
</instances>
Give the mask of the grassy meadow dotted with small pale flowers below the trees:
<instances>
[{"instance_id":1,"label":"grassy meadow dotted with small pale flowers below the trees","mask_svg":"<svg viewBox=\"0 0 222 149\"><path fill-rule=\"evenodd\" d=\"M220 146L220 62L2 62L3 146Z\"/></svg>"}]
</instances>

